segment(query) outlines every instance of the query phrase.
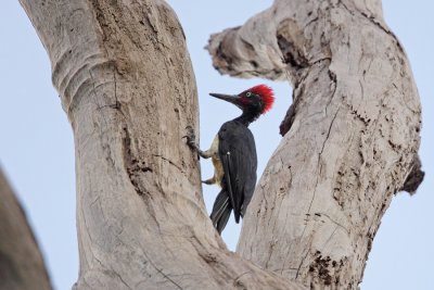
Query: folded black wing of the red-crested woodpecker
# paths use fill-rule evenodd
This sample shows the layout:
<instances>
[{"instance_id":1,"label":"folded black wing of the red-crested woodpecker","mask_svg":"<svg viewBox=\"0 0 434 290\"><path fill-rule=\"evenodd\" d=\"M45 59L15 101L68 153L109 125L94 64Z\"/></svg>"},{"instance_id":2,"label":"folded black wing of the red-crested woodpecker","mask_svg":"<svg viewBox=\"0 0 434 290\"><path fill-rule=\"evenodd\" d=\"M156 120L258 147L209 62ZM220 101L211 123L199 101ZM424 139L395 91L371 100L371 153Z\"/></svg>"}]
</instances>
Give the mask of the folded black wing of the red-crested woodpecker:
<instances>
[{"instance_id":1,"label":"folded black wing of the red-crested woodpecker","mask_svg":"<svg viewBox=\"0 0 434 290\"><path fill-rule=\"evenodd\" d=\"M256 148L251 130L237 122L225 123L219 133L219 156L224 167L224 184L239 223L255 189Z\"/></svg>"}]
</instances>

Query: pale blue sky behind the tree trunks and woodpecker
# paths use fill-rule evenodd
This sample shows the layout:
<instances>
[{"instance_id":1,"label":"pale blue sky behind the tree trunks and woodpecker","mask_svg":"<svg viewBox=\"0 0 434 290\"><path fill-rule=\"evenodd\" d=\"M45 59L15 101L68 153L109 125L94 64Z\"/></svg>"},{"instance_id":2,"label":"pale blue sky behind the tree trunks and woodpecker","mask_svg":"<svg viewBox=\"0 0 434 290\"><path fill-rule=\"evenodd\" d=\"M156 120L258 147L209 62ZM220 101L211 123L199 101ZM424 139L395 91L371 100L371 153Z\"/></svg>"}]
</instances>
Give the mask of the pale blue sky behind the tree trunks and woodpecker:
<instances>
[{"instance_id":1,"label":"pale blue sky behind the tree trunks and woodpecker","mask_svg":"<svg viewBox=\"0 0 434 290\"><path fill-rule=\"evenodd\" d=\"M225 121L239 114L235 108L212 99L208 92L239 92L258 83L273 87L273 110L254 123L259 175L277 147L278 126L291 103L288 84L220 76L203 49L209 34L242 25L271 4L267 1L170 0L187 35L199 87L201 143L209 146ZM192 4L189 4L192 3ZM382 220L365 272L362 290L432 289L434 270L432 79L434 67L432 11L429 0L383 1L386 22L401 40L419 88L423 108L421 156L426 177L417 196L398 194ZM71 126L51 85L50 63L31 24L17 1L4 1L0 10L0 164L7 172L42 248L55 289L71 289L78 275L75 229L74 141ZM430 150L431 148L431 150ZM204 177L212 165L202 162ZM212 206L216 187L204 187ZM235 248L240 227L231 222L224 232ZM1 238L1 237L0 237Z\"/></svg>"}]
</instances>

